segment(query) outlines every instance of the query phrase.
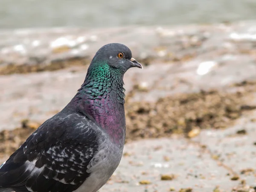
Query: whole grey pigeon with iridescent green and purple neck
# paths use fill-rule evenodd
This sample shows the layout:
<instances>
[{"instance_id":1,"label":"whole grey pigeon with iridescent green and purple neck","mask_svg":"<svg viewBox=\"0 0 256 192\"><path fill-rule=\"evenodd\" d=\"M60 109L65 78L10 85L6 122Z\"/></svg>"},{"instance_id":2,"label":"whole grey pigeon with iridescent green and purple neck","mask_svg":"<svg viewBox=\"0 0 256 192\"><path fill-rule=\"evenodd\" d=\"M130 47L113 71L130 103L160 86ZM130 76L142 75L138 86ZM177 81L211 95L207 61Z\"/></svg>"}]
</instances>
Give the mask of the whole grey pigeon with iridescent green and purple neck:
<instances>
[{"instance_id":1,"label":"whole grey pigeon with iridescent green and purple neck","mask_svg":"<svg viewBox=\"0 0 256 192\"><path fill-rule=\"evenodd\" d=\"M73 99L0 165L0 191L97 192L105 185L122 157L123 76L132 67L143 68L127 46L100 48Z\"/></svg>"}]
</instances>

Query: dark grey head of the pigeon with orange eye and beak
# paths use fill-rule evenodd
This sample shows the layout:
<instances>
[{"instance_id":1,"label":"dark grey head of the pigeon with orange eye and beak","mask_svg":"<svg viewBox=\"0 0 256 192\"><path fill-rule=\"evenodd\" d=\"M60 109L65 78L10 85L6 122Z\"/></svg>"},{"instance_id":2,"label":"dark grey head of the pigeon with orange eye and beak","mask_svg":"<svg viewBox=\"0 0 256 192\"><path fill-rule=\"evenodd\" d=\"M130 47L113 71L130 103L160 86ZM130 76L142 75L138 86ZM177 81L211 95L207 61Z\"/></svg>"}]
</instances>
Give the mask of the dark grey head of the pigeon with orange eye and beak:
<instances>
[{"instance_id":1,"label":"dark grey head of the pigeon with orange eye and beak","mask_svg":"<svg viewBox=\"0 0 256 192\"><path fill-rule=\"evenodd\" d=\"M132 67L143 68L139 62L132 58L131 50L120 43L104 45L93 57L92 63L94 62L106 62L111 67L121 69L124 73Z\"/></svg>"}]
</instances>

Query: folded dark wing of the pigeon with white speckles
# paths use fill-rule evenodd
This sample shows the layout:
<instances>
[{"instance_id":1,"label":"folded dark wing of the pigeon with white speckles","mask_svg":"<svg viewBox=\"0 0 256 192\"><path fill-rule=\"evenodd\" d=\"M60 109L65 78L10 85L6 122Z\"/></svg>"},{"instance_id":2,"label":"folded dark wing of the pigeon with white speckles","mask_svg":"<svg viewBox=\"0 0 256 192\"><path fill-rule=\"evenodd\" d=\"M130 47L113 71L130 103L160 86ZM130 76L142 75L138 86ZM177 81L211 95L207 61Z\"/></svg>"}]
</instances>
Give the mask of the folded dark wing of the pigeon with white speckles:
<instances>
[{"instance_id":1,"label":"folded dark wing of the pigeon with white speckles","mask_svg":"<svg viewBox=\"0 0 256 192\"><path fill-rule=\"evenodd\" d=\"M44 122L0 169L0 191L72 192L90 176L98 150L84 116L56 114ZM2 187L2 188L1 188Z\"/></svg>"}]
</instances>

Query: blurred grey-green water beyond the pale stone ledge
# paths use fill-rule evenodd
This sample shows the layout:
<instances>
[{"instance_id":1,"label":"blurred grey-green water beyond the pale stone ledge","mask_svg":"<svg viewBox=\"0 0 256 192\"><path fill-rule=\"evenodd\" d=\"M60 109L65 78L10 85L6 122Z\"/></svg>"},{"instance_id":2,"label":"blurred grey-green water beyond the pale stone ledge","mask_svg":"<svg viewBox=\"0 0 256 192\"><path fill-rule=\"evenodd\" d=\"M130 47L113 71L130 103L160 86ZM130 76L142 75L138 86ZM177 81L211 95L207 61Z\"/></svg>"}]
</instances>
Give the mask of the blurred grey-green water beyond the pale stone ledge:
<instances>
[{"instance_id":1,"label":"blurred grey-green water beyond the pale stone ledge","mask_svg":"<svg viewBox=\"0 0 256 192\"><path fill-rule=\"evenodd\" d=\"M0 0L0 28L176 25L256 19L256 0Z\"/></svg>"}]
</instances>

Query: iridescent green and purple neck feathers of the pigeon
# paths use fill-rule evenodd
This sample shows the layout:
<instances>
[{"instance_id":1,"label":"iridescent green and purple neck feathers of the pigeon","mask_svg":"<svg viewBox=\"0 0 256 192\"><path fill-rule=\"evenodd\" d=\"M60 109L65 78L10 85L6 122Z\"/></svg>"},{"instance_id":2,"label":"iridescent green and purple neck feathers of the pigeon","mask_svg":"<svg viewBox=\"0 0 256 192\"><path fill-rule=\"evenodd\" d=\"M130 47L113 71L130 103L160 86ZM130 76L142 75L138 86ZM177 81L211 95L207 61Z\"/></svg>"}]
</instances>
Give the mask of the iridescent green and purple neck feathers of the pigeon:
<instances>
[{"instance_id":1,"label":"iridescent green and purple neck feathers of the pigeon","mask_svg":"<svg viewBox=\"0 0 256 192\"><path fill-rule=\"evenodd\" d=\"M125 138L125 90L123 75L117 68L102 64L89 68L84 84L73 101L80 113L96 121L115 143Z\"/></svg>"}]
</instances>

